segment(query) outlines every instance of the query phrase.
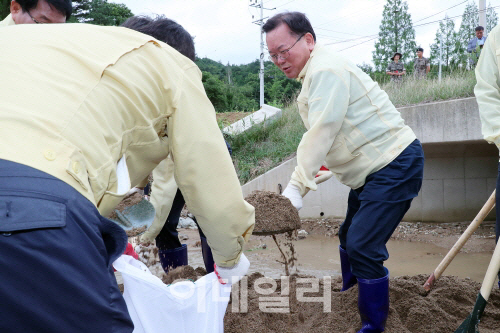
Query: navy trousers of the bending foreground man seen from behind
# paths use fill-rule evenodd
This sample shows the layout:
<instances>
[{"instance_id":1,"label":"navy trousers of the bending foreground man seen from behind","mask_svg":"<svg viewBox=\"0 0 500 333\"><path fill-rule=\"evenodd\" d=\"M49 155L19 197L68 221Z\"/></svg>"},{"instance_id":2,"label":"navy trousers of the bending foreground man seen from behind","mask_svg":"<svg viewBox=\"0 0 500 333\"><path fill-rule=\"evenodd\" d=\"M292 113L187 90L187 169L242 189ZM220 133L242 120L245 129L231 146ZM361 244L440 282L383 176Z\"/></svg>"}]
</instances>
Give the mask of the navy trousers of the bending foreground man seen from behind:
<instances>
[{"instance_id":1,"label":"navy trousers of the bending foreground man seen from behind","mask_svg":"<svg viewBox=\"0 0 500 333\"><path fill-rule=\"evenodd\" d=\"M0 332L132 332L111 267L126 244L74 188L0 160Z\"/></svg>"}]
</instances>

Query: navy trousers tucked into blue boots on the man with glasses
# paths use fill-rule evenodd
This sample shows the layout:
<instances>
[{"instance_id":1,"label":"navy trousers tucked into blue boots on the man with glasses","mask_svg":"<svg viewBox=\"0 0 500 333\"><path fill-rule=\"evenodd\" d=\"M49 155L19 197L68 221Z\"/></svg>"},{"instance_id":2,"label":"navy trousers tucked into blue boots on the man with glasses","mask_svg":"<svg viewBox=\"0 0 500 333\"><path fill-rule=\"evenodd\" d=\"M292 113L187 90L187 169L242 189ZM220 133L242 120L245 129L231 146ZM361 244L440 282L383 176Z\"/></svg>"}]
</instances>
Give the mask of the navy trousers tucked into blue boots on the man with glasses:
<instances>
[{"instance_id":1,"label":"navy trousers tucked into blue boots on the man with glasses","mask_svg":"<svg viewBox=\"0 0 500 333\"><path fill-rule=\"evenodd\" d=\"M415 140L391 163L369 175L365 185L349 192L339 239L357 278L387 275L386 243L418 195L423 170L424 152L420 141Z\"/></svg>"}]
</instances>

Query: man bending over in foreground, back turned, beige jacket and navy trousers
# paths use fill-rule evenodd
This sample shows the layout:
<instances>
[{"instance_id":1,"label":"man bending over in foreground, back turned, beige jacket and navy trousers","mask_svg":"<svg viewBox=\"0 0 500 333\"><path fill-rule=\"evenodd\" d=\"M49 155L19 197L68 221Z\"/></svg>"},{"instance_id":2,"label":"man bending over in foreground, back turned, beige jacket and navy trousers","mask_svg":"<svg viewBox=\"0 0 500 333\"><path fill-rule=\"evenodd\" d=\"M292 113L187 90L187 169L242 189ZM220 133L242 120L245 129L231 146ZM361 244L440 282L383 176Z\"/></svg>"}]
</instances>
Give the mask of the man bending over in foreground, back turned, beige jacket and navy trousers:
<instances>
[{"instance_id":1,"label":"man bending over in foreground, back turned, beige jacket and navy trousers","mask_svg":"<svg viewBox=\"0 0 500 333\"><path fill-rule=\"evenodd\" d=\"M111 267L127 237L102 215L169 154L219 275L246 273L254 209L191 60L117 27L0 40L0 331L133 330Z\"/></svg>"}]
</instances>

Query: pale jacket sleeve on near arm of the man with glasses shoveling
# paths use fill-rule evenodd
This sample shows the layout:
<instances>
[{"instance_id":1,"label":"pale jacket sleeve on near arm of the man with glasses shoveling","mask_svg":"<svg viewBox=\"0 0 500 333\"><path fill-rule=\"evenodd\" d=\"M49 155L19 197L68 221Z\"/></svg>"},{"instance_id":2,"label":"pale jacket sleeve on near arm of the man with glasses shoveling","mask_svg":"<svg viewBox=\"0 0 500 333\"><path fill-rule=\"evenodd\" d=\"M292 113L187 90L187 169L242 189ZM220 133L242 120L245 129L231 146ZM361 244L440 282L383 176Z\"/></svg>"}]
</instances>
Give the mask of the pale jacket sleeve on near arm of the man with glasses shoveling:
<instances>
[{"instance_id":1,"label":"pale jacket sleeve on near arm of the man with glasses shoveling","mask_svg":"<svg viewBox=\"0 0 500 333\"><path fill-rule=\"evenodd\" d=\"M297 148L297 167L290 183L304 196L315 191L314 177L330 151L349 106L349 76L340 76L324 70L313 73L310 82L307 116L309 130L304 133Z\"/></svg>"}]
</instances>

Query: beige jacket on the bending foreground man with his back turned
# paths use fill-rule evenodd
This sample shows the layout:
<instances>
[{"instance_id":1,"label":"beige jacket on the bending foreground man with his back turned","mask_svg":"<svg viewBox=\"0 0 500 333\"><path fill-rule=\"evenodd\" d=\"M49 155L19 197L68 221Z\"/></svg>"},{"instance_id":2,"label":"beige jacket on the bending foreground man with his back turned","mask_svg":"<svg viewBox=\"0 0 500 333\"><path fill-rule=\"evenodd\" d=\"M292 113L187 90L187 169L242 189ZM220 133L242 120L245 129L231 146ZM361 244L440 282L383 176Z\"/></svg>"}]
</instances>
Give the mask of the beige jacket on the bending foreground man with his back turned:
<instances>
[{"instance_id":1,"label":"beige jacket on the bending foreground man with his back turned","mask_svg":"<svg viewBox=\"0 0 500 333\"><path fill-rule=\"evenodd\" d=\"M254 208L192 61L119 27L15 25L0 41L1 159L61 179L107 215L170 154L215 261L238 261Z\"/></svg>"}]
</instances>

